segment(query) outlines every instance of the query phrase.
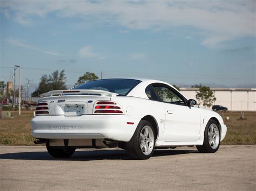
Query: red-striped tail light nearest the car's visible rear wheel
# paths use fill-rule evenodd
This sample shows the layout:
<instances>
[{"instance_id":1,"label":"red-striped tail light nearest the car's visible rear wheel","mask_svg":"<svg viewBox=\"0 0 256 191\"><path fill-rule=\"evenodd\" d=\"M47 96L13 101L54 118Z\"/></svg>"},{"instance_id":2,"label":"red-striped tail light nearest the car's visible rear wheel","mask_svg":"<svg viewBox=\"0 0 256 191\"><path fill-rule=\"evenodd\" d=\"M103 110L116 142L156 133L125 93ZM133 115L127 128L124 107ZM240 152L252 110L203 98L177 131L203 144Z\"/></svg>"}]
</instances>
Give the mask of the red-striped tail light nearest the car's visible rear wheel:
<instances>
[{"instance_id":1,"label":"red-striped tail light nearest the car's visible rear wheel","mask_svg":"<svg viewBox=\"0 0 256 191\"><path fill-rule=\"evenodd\" d=\"M111 101L98 101L94 108L93 114L123 114L123 111L115 102Z\"/></svg>"}]
</instances>

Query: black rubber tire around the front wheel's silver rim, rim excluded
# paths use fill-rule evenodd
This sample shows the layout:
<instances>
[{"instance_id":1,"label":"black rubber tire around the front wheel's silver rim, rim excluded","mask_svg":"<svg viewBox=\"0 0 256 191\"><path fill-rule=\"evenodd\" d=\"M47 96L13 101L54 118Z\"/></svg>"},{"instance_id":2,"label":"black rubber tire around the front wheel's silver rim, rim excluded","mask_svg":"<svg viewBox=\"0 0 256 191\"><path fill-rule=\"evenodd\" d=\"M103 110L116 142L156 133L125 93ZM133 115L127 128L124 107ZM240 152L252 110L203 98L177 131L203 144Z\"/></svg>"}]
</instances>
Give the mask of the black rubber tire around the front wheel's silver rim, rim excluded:
<instances>
[{"instance_id":1,"label":"black rubber tire around the front wheel's silver rim, rim excluded","mask_svg":"<svg viewBox=\"0 0 256 191\"><path fill-rule=\"evenodd\" d=\"M219 133L219 143L218 143L218 146L216 148L212 148L212 146L210 145L209 141L208 141L208 131L210 129L210 126L212 124L215 124L218 128L218 133ZM218 151L219 149L219 146L220 146L220 129L219 129L219 125L218 123L213 120L213 119L210 119L209 122L207 123L206 125L206 128L205 128L205 132L204 132L204 144L203 145L197 145L197 150L200 152L200 153L214 153L216 151Z\"/></svg>"}]
</instances>

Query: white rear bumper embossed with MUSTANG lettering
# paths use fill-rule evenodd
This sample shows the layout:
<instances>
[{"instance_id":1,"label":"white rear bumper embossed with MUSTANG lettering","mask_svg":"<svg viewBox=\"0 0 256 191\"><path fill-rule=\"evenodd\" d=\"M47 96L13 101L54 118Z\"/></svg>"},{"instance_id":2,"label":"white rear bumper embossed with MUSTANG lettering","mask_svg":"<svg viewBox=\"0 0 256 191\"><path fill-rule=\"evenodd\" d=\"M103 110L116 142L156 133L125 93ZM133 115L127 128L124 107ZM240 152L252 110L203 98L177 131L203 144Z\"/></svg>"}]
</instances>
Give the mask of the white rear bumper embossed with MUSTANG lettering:
<instances>
[{"instance_id":1,"label":"white rear bumper embossed with MUSTANG lettering","mask_svg":"<svg viewBox=\"0 0 256 191\"><path fill-rule=\"evenodd\" d=\"M31 120L31 126L32 136L35 138L108 138L129 142L139 121L140 119L131 119L125 115L35 116Z\"/></svg>"}]
</instances>

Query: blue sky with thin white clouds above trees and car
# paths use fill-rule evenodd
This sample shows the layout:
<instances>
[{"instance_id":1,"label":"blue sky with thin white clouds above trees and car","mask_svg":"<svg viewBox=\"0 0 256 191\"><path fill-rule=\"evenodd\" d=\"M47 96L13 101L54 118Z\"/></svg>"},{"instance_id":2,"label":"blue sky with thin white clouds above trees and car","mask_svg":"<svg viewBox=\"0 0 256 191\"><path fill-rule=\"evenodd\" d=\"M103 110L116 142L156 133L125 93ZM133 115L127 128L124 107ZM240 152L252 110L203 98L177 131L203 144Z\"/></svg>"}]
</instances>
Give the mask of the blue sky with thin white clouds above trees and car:
<instances>
[{"instance_id":1,"label":"blue sky with thin white clouds above trees and car","mask_svg":"<svg viewBox=\"0 0 256 191\"><path fill-rule=\"evenodd\" d=\"M256 87L255 5L0 0L0 80L13 80L19 65L31 91L43 74L62 69L68 87L86 72L179 86Z\"/></svg>"}]
</instances>

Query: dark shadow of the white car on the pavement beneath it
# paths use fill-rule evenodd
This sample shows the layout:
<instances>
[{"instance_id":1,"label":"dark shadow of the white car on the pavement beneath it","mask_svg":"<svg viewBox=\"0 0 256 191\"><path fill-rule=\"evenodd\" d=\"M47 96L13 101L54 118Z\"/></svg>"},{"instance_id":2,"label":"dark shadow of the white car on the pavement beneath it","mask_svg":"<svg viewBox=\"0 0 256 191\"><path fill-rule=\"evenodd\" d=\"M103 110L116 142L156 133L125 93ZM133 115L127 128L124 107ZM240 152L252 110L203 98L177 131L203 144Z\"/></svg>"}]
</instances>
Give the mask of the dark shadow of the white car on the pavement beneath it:
<instances>
[{"instance_id":1,"label":"dark shadow of the white car on the pavement beneath it","mask_svg":"<svg viewBox=\"0 0 256 191\"><path fill-rule=\"evenodd\" d=\"M166 155L198 153L196 150L155 150L152 158ZM67 161L91 161L91 160L130 160L125 150L77 150L70 158L53 158L46 151L17 152L0 154L0 159L14 160L67 160Z\"/></svg>"}]
</instances>

